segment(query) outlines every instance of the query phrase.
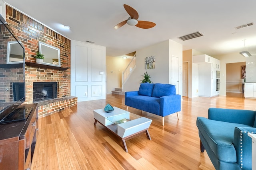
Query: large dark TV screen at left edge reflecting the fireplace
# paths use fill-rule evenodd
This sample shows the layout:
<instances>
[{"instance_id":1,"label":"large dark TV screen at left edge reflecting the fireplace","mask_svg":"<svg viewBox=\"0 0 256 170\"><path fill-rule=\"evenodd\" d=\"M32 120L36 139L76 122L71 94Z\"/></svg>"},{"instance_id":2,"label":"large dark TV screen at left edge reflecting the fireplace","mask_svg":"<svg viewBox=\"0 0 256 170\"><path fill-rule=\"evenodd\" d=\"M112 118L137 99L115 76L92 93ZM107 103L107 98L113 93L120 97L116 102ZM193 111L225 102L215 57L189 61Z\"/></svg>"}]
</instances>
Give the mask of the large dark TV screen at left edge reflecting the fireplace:
<instances>
[{"instance_id":1,"label":"large dark TV screen at left edge reflecting the fireplace","mask_svg":"<svg viewBox=\"0 0 256 170\"><path fill-rule=\"evenodd\" d=\"M0 123L26 119L24 47L0 15Z\"/></svg>"}]
</instances>

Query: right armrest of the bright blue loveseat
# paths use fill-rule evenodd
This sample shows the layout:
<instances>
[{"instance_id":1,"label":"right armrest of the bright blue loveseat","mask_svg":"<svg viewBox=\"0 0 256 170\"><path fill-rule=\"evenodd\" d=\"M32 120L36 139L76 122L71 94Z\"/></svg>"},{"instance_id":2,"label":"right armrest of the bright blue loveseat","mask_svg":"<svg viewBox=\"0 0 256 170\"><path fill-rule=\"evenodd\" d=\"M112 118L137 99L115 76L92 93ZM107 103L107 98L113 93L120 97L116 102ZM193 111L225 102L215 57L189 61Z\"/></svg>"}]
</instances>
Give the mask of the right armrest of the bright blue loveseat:
<instances>
[{"instance_id":1,"label":"right armrest of the bright blue loveseat","mask_svg":"<svg viewBox=\"0 0 256 170\"><path fill-rule=\"evenodd\" d=\"M181 109L181 96L174 94L160 97L160 116L176 113Z\"/></svg>"}]
</instances>

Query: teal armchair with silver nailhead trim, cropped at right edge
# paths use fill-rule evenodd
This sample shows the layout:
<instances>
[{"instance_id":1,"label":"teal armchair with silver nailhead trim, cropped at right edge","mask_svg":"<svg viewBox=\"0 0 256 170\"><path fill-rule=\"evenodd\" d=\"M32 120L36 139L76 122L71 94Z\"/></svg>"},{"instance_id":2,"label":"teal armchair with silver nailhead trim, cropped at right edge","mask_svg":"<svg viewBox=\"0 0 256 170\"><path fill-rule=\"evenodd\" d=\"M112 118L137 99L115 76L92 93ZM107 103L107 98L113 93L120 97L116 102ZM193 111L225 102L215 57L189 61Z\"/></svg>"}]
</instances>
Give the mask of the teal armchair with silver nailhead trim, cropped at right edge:
<instances>
[{"instance_id":1,"label":"teal armchair with silver nailhead trim, cropped at right edge","mask_svg":"<svg viewBox=\"0 0 256 170\"><path fill-rule=\"evenodd\" d=\"M209 108L208 119L197 118L201 152L206 150L216 170L252 169L247 133L256 133L255 115L252 110Z\"/></svg>"}]
</instances>

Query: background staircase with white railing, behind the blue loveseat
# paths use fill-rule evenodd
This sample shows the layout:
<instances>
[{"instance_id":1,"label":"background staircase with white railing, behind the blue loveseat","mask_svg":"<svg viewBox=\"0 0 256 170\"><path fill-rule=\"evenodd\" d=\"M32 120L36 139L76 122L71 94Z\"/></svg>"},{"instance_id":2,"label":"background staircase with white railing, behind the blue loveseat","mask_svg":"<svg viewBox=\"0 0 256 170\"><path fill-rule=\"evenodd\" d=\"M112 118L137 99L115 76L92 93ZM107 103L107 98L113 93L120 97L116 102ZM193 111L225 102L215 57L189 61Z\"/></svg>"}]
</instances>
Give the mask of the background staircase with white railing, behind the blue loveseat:
<instances>
[{"instance_id":1,"label":"background staircase with white railing, behind the blue loveseat","mask_svg":"<svg viewBox=\"0 0 256 170\"><path fill-rule=\"evenodd\" d=\"M124 95L124 92L123 92L124 83L128 80L134 68L136 68L136 53L132 57L132 60L130 61L128 66L122 72L122 87L118 87L118 88L115 88L115 90L112 90L112 94Z\"/></svg>"}]
</instances>

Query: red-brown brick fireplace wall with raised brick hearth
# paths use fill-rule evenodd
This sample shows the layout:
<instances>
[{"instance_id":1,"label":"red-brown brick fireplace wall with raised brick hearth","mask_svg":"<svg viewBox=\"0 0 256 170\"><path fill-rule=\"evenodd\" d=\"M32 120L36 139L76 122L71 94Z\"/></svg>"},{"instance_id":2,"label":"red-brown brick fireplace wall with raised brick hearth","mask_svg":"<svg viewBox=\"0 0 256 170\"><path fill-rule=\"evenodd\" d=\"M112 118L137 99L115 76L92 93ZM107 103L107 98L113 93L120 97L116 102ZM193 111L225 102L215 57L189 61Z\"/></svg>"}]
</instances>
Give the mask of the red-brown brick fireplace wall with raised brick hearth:
<instances>
[{"instance_id":1,"label":"red-brown brick fireplace wall with raised brick hearth","mask_svg":"<svg viewBox=\"0 0 256 170\"><path fill-rule=\"evenodd\" d=\"M6 21L14 35L25 47L25 104L33 103L34 83L56 83L56 98L38 102L39 116L54 113L65 107L75 106L77 98L70 96L70 39L32 20L6 5ZM60 49L60 67L36 63L33 57L38 51L38 41ZM65 68L65 69L63 69Z\"/></svg>"}]
</instances>

